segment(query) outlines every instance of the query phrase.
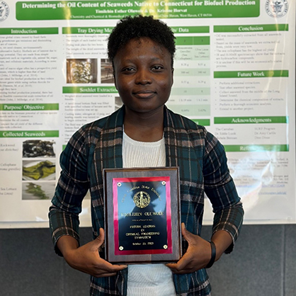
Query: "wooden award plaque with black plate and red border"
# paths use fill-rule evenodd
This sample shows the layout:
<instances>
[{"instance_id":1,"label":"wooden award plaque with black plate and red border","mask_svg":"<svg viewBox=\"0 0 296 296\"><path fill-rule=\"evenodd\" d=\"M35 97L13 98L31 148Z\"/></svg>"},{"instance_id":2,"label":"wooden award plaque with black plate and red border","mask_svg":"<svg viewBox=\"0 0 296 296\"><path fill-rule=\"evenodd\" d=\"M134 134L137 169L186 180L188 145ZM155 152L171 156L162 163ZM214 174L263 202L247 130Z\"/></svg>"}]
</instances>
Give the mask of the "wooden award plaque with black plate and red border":
<instances>
[{"instance_id":1,"label":"wooden award plaque with black plate and red border","mask_svg":"<svg viewBox=\"0 0 296 296\"><path fill-rule=\"evenodd\" d=\"M104 169L105 252L110 263L181 258L177 167Z\"/></svg>"}]
</instances>

